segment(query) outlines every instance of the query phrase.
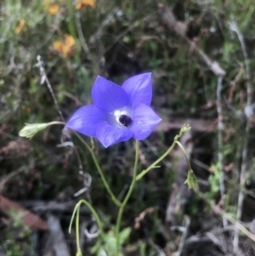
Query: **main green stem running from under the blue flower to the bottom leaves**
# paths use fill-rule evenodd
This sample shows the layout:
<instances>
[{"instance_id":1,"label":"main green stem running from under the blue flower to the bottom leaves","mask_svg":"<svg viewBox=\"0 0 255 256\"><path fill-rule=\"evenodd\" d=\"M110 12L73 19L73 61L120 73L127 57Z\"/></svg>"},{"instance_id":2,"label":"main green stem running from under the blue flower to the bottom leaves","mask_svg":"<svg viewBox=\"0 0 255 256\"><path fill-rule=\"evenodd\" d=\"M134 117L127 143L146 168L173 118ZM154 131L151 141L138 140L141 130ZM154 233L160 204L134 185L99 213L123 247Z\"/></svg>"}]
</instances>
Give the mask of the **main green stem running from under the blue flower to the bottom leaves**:
<instances>
[{"instance_id":1,"label":"main green stem running from under the blue flower to the bottom leaves","mask_svg":"<svg viewBox=\"0 0 255 256\"><path fill-rule=\"evenodd\" d=\"M119 208L117 221L116 221L116 250L119 249L119 242L120 242L119 241L119 233L120 233L120 226L122 223L122 213L127 204L129 197L131 196L131 194L133 192L133 188L134 188L134 185L136 182L138 161L139 161L139 140L135 140L135 160L134 160L134 165L133 165L133 179L132 179L131 185L129 187L129 190L127 191L127 196L125 196L124 201L122 202L122 205ZM116 255L117 255L117 253L116 253Z\"/></svg>"}]
</instances>

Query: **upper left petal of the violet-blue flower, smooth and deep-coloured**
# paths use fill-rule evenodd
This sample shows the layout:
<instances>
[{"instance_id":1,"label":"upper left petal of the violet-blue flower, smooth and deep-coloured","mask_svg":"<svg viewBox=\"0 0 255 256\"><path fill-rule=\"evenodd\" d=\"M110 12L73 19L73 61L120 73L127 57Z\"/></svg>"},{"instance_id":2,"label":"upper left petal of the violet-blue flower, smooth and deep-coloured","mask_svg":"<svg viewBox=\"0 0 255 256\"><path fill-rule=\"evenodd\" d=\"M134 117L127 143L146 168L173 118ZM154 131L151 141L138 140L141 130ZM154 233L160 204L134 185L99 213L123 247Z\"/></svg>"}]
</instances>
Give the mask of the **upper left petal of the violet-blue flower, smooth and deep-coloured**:
<instances>
[{"instance_id":1,"label":"upper left petal of the violet-blue flower, smooth and deep-coloured","mask_svg":"<svg viewBox=\"0 0 255 256\"><path fill-rule=\"evenodd\" d=\"M111 112L127 105L129 97L116 83L97 77L92 88L92 99L100 110Z\"/></svg>"}]
</instances>

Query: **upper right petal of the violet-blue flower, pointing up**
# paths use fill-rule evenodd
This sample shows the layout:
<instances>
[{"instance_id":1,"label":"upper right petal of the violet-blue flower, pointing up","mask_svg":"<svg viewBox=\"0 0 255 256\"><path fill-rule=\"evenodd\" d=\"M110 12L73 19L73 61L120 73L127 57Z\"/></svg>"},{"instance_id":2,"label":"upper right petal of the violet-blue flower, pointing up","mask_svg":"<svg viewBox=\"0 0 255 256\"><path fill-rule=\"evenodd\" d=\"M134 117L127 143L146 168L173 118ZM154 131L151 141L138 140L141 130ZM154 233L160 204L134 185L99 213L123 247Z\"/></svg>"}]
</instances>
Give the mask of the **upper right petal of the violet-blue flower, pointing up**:
<instances>
[{"instance_id":1,"label":"upper right petal of the violet-blue flower, pointing up","mask_svg":"<svg viewBox=\"0 0 255 256\"><path fill-rule=\"evenodd\" d=\"M141 103L150 105L152 97L151 73L130 77L123 83L122 88L129 95L129 103L135 107Z\"/></svg>"}]
</instances>

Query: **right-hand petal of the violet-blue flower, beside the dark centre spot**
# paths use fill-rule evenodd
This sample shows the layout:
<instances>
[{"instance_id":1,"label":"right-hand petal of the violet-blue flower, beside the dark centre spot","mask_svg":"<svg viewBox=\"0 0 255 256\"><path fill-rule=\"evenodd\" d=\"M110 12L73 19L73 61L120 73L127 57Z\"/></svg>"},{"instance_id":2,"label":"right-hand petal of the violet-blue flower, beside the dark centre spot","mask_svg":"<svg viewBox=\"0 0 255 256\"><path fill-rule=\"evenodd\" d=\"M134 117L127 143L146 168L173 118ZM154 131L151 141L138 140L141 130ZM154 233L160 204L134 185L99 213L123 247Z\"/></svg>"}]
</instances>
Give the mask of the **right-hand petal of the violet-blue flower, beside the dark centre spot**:
<instances>
[{"instance_id":1,"label":"right-hand petal of the violet-blue flower, beside the dark centre spot","mask_svg":"<svg viewBox=\"0 0 255 256\"><path fill-rule=\"evenodd\" d=\"M133 109L133 120L130 127L133 132L134 139L147 138L157 124L161 122L161 118L148 105L140 104Z\"/></svg>"}]
</instances>

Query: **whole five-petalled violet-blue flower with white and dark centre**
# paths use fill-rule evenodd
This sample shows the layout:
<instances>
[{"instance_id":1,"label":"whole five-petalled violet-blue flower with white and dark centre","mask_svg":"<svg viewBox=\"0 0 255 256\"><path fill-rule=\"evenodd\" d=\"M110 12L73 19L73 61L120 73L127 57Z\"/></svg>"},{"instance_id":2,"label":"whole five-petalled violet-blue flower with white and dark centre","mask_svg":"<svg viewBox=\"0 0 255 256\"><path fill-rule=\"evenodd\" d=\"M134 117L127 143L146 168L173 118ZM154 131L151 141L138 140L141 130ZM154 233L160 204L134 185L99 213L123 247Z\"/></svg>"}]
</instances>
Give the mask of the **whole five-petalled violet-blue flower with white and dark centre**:
<instances>
[{"instance_id":1,"label":"whole five-petalled violet-blue flower with white and dark centre","mask_svg":"<svg viewBox=\"0 0 255 256\"><path fill-rule=\"evenodd\" d=\"M92 88L94 105L82 106L66 124L96 137L105 146L127 139L145 139L161 118L150 108L151 74L130 77L122 87L97 77Z\"/></svg>"}]
</instances>

